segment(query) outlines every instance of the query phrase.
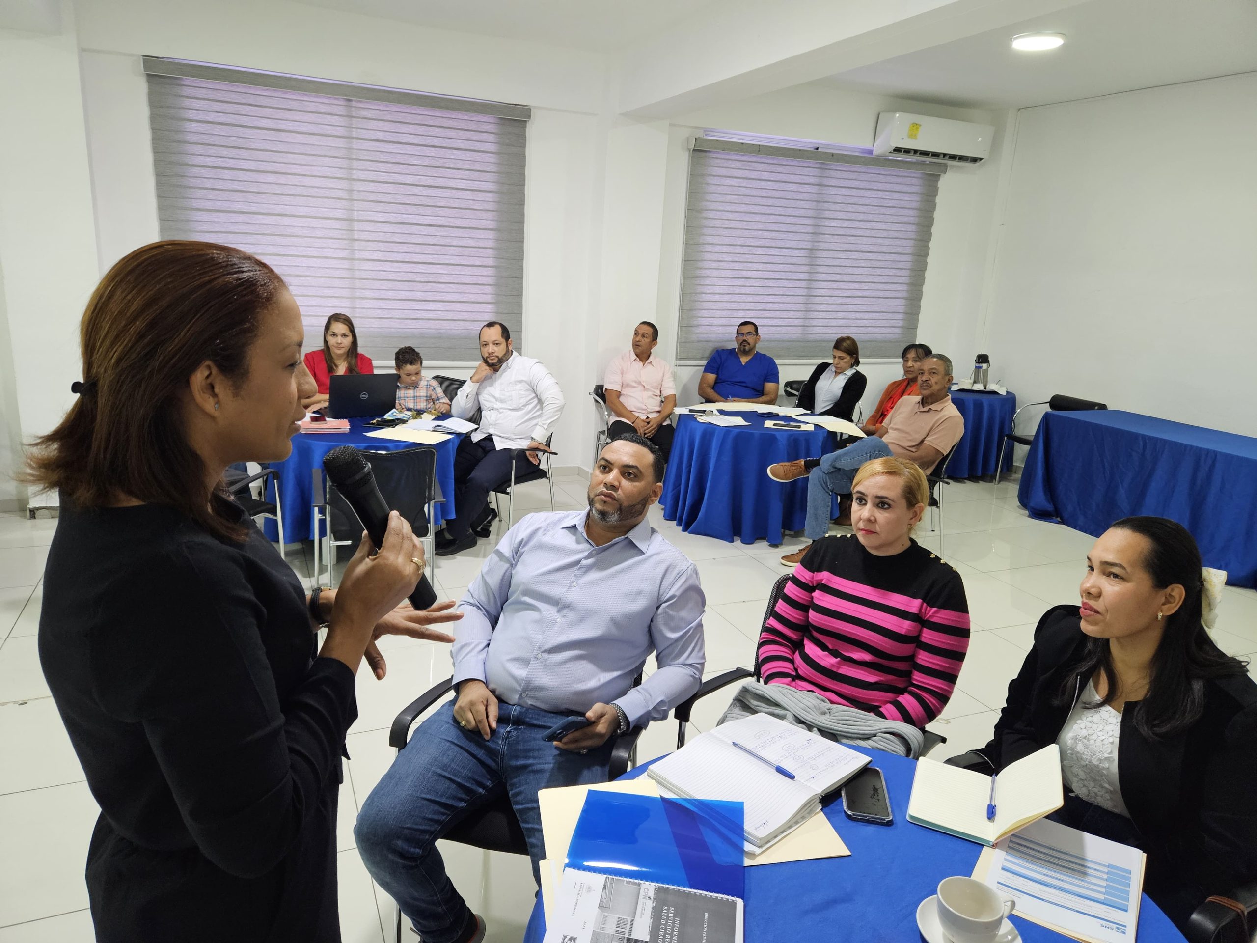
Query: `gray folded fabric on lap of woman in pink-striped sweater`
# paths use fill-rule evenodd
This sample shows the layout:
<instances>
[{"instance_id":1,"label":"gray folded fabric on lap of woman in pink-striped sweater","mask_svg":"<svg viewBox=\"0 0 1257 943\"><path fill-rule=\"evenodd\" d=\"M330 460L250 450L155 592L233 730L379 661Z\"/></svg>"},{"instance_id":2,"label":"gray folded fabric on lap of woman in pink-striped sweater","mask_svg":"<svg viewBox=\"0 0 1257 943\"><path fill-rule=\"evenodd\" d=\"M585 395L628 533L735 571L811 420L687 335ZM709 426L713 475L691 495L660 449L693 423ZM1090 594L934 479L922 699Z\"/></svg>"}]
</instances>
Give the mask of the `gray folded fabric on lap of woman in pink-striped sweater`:
<instances>
[{"instance_id":1,"label":"gray folded fabric on lap of woman in pink-striped sweater","mask_svg":"<svg viewBox=\"0 0 1257 943\"><path fill-rule=\"evenodd\" d=\"M768 714L838 743L884 749L916 759L925 734L911 724L866 714L859 708L831 704L820 694L788 684L748 681L733 695L720 723L752 714Z\"/></svg>"}]
</instances>

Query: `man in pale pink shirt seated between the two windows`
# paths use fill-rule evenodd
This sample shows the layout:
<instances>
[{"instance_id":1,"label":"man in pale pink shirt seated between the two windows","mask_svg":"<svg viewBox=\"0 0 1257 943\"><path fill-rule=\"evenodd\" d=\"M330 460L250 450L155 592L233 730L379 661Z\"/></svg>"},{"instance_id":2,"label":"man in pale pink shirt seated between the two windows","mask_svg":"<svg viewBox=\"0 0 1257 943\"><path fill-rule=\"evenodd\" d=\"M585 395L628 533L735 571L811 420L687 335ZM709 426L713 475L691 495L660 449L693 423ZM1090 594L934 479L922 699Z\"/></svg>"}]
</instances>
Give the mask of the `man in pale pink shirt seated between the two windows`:
<instances>
[{"instance_id":1,"label":"man in pale pink shirt seated between the two windows","mask_svg":"<svg viewBox=\"0 0 1257 943\"><path fill-rule=\"evenodd\" d=\"M667 417L676 409L672 368L652 351L659 343L659 328L642 321L632 332L632 350L607 365L602 381L607 409L615 419L607 426L612 439L637 433L650 439L667 460L672 448L672 426Z\"/></svg>"}]
</instances>

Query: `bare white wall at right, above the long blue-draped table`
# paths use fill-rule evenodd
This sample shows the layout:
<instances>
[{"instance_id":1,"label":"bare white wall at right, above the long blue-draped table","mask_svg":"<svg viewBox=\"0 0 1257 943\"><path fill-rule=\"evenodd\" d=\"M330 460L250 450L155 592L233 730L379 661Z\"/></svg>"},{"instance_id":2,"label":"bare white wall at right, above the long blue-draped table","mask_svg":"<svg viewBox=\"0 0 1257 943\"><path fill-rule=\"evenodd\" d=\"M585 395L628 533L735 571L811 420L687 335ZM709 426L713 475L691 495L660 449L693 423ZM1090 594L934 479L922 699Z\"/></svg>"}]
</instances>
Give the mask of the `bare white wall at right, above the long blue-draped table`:
<instances>
[{"instance_id":1,"label":"bare white wall at right, above the long blue-draped table","mask_svg":"<svg viewBox=\"0 0 1257 943\"><path fill-rule=\"evenodd\" d=\"M1257 74L1023 109L992 373L1257 435Z\"/></svg>"}]
</instances>

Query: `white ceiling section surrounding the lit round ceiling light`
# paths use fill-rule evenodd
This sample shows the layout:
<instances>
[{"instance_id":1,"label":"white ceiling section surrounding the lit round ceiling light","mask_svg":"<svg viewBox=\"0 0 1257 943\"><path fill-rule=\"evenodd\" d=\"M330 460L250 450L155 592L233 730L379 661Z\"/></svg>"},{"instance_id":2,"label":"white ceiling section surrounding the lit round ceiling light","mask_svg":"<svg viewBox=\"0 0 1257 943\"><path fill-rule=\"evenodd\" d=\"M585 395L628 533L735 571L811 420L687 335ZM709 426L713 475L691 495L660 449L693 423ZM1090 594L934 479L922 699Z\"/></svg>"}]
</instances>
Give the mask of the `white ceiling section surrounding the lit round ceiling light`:
<instances>
[{"instance_id":1,"label":"white ceiling section surrounding the lit round ceiling light","mask_svg":"<svg viewBox=\"0 0 1257 943\"><path fill-rule=\"evenodd\" d=\"M1045 53L1012 49L1013 35L1032 31L1067 39ZM823 80L940 104L1019 108L1254 70L1257 0L1091 0Z\"/></svg>"}]
</instances>

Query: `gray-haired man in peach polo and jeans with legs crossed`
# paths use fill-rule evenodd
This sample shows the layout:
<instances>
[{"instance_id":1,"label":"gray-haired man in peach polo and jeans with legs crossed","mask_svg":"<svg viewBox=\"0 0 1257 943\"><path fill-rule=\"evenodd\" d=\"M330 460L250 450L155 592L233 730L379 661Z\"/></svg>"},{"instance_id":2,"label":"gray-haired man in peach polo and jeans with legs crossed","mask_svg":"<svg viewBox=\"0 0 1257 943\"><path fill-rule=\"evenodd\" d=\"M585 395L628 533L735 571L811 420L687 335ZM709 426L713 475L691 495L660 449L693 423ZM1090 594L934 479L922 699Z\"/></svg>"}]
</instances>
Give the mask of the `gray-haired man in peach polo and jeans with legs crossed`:
<instances>
[{"instance_id":1,"label":"gray-haired man in peach polo and jeans with legs crossed","mask_svg":"<svg viewBox=\"0 0 1257 943\"><path fill-rule=\"evenodd\" d=\"M886 425L876 435L857 439L820 459L779 461L768 466L768 477L777 482L807 478L807 524L803 529L813 541L830 531L830 508L833 495L840 497L840 524L851 523L851 482L859 468L872 459L894 455L920 465L925 474L934 470L952 446L964 435L964 417L952 404L952 360L934 353L921 361L916 380L920 396L905 396L895 404ZM782 565L798 563L807 544L797 553L782 557Z\"/></svg>"}]
</instances>

